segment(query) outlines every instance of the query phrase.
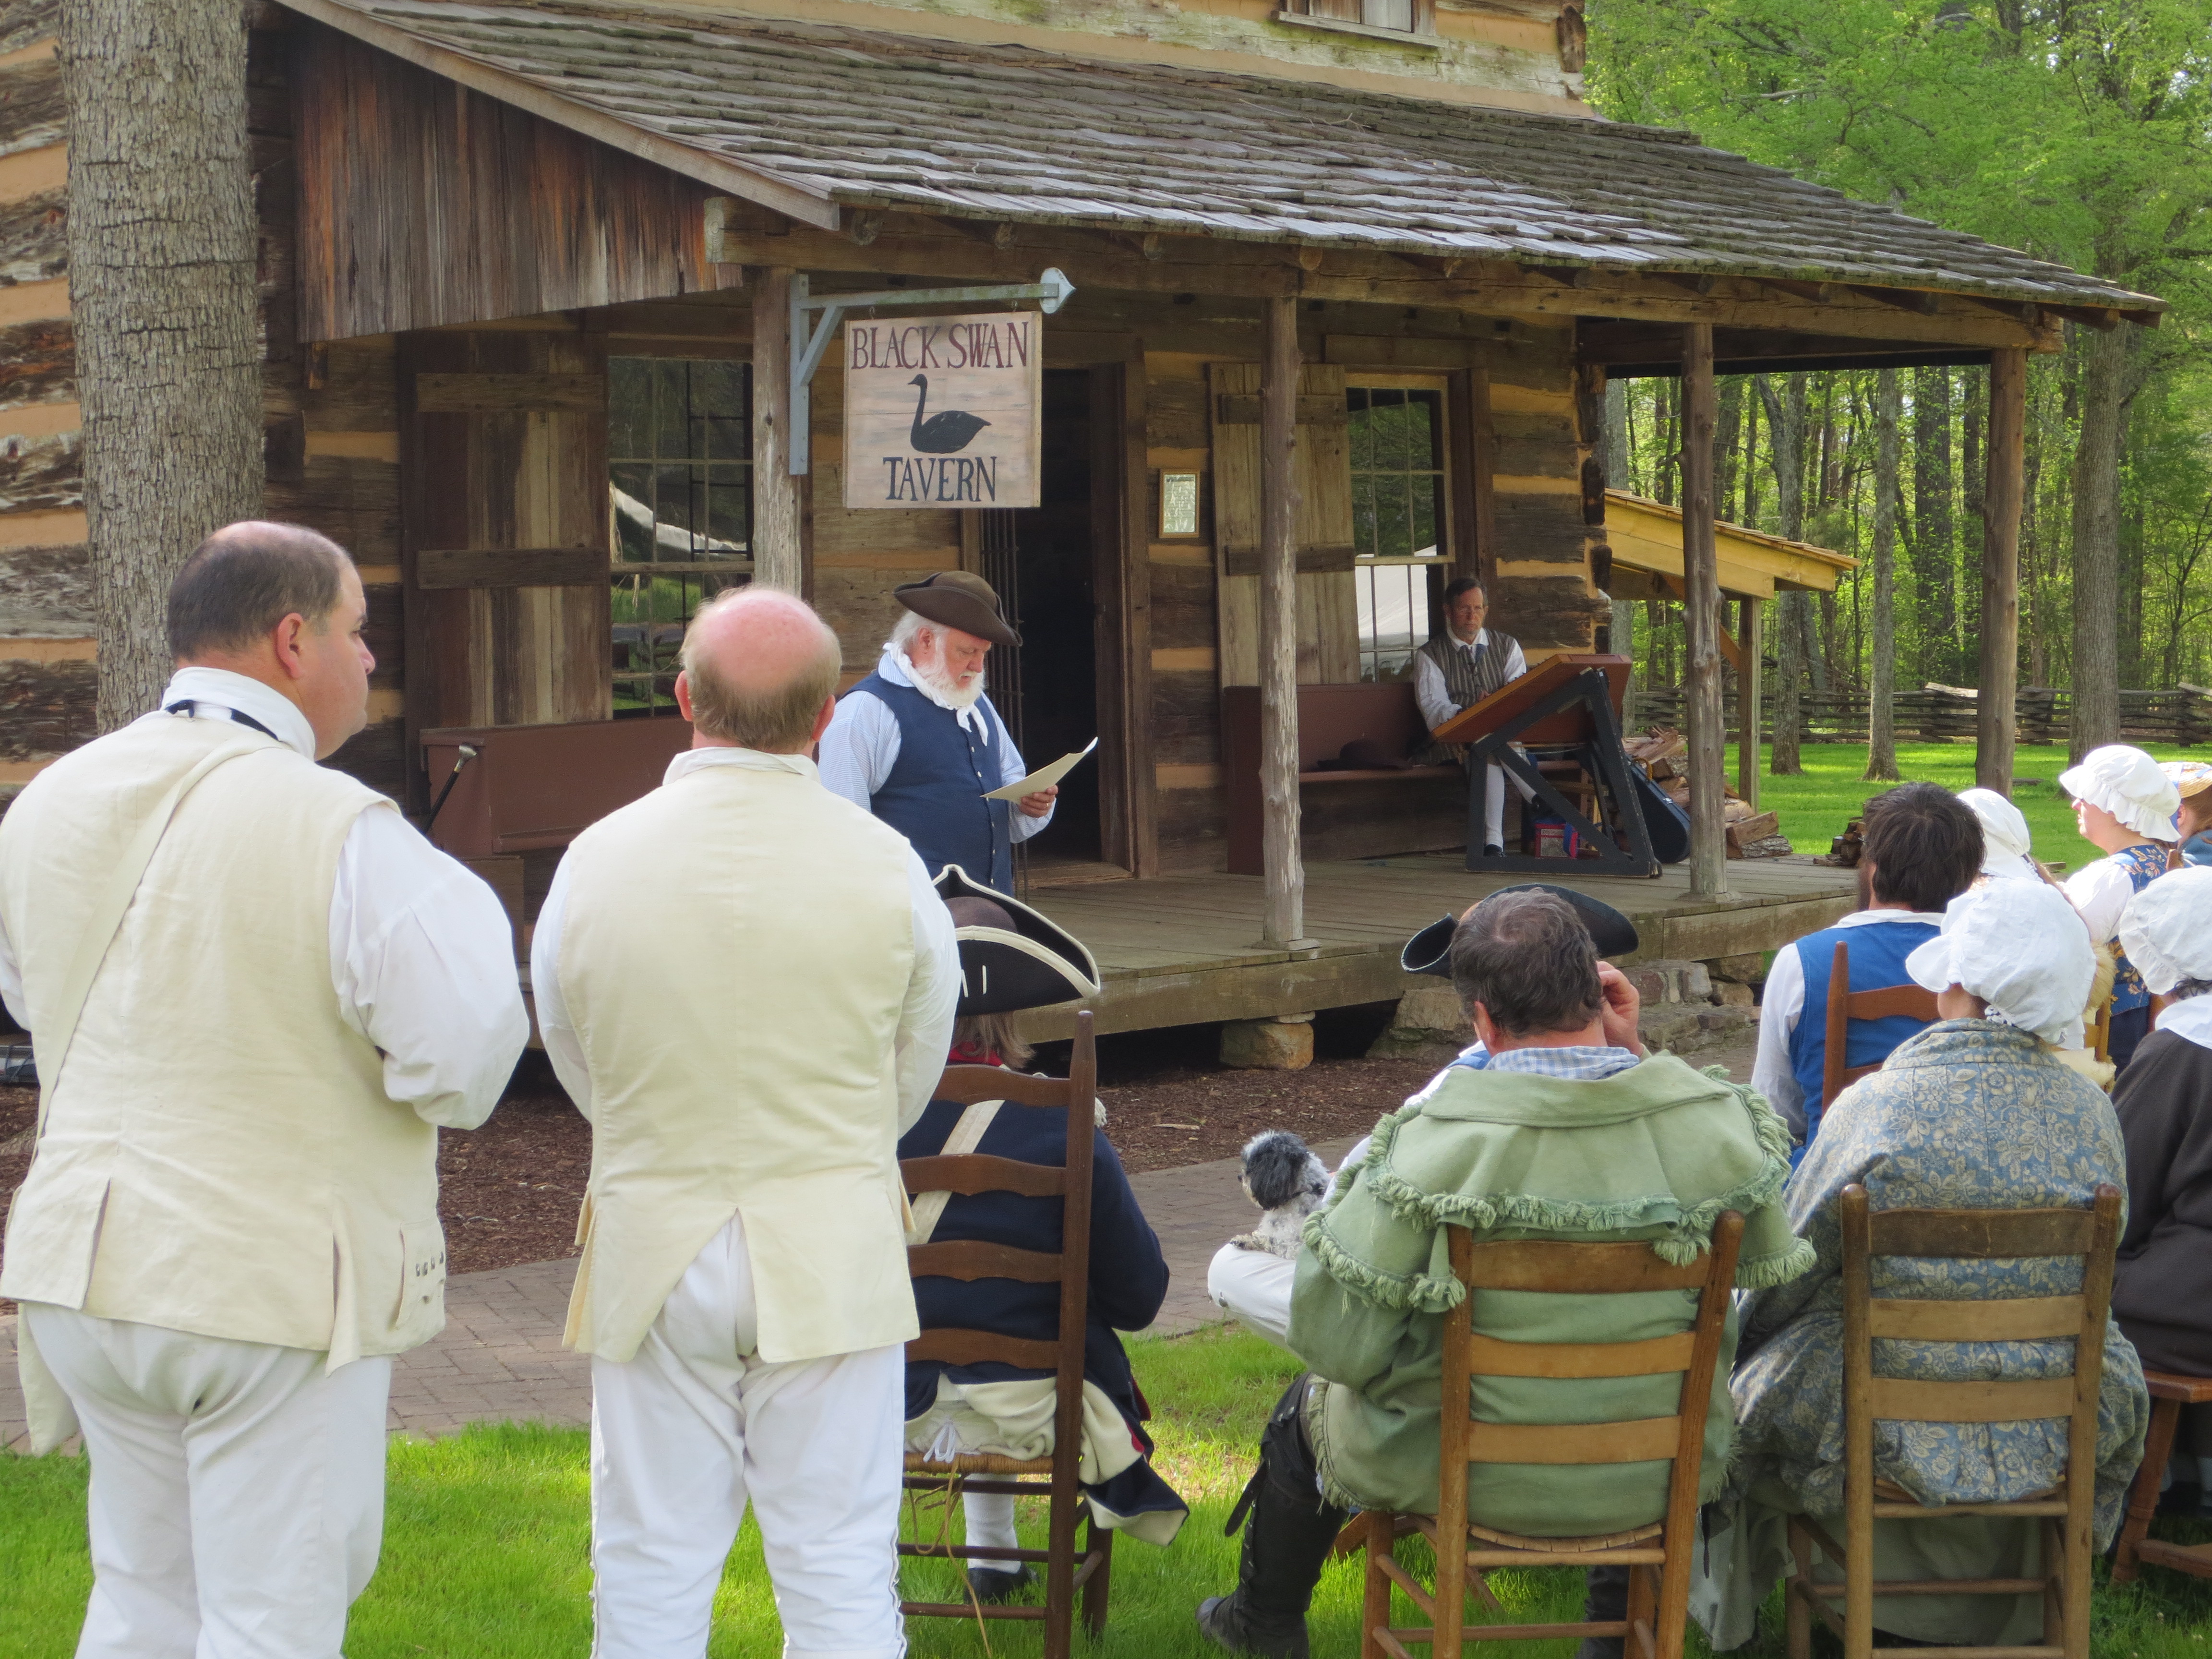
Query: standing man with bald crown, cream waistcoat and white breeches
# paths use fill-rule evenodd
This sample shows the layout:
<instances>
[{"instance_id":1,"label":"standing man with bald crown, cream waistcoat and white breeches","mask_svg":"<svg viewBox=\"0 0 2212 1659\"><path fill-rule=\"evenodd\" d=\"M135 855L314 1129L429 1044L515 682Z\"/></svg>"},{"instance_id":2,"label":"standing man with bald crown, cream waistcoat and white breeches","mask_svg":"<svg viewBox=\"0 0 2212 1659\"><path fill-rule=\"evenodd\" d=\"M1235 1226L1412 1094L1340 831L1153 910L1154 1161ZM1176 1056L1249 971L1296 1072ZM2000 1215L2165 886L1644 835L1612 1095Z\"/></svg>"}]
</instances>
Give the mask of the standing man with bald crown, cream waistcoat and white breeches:
<instances>
[{"instance_id":1,"label":"standing man with bald crown, cream waistcoat and white breeches","mask_svg":"<svg viewBox=\"0 0 2212 1659\"><path fill-rule=\"evenodd\" d=\"M597 1659L706 1652L748 1498L787 1659L905 1652L898 1137L960 958L907 838L807 759L836 679L803 602L703 608L692 748L575 838L538 916L538 1022L593 1124L568 1343L593 1356Z\"/></svg>"}]
</instances>

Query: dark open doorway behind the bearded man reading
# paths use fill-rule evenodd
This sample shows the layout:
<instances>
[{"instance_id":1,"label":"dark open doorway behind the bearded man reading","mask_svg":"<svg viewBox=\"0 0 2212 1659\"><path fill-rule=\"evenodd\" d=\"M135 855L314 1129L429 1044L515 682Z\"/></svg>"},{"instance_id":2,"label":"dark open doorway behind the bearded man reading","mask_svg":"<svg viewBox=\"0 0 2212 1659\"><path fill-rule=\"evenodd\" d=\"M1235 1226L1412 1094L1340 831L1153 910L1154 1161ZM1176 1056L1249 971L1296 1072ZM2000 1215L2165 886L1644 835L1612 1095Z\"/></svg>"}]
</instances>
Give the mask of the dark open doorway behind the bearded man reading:
<instances>
[{"instance_id":1,"label":"dark open doorway behind the bearded man reading","mask_svg":"<svg viewBox=\"0 0 2212 1659\"><path fill-rule=\"evenodd\" d=\"M1031 765L1099 734L1097 549L1091 511L1091 369L1044 372L1040 504L1013 518L1020 661L1020 741ZM1060 785L1051 827L1026 843L1031 878L1099 860L1099 757Z\"/></svg>"}]
</instances>

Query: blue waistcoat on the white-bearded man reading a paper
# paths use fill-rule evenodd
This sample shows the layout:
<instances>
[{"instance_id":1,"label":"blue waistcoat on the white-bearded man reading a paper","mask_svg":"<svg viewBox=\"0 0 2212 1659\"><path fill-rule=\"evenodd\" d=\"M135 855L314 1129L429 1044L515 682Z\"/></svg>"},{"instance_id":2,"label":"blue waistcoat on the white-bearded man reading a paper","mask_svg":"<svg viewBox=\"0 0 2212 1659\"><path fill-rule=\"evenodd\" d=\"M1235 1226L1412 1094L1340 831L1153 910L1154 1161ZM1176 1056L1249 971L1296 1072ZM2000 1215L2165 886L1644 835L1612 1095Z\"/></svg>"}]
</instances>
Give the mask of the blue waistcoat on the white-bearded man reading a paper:
<instances>
[{"instance_id":1,"label":"blue waistcoat on the white-bearded man reading a paper","mask_svg":"<svg viewBox=\"0 0 2212 1659\"><path fill-rule=\"evenodd\" d=\"M936 876L960 865L969 876L1013 891L1013 803L984 801L1004 781L1013 745L989 697L978 697L989 737L975 737L949 708L938 708L914 686L869 675L847 697L867 692L898 721L898 759L891 776L867 799L867 810L898 830Z\"/></svg>"}]
</instances>

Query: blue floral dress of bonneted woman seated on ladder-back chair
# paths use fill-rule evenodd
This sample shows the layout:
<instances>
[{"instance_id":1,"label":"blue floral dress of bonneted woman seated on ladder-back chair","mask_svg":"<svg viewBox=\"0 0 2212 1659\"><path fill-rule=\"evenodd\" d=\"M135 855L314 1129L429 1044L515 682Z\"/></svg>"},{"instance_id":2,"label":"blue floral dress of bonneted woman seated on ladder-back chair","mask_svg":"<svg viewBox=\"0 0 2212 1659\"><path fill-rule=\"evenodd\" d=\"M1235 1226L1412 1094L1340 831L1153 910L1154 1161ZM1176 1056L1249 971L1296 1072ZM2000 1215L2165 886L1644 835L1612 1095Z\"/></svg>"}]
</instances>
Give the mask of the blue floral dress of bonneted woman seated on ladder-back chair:
<instances>
[{"instance_id":1,"label":"blue floral dress of bonneted woman seated on ladder-back chair","mask_svg":"<svg viewBox=\"0 0 2212 1659\"><path fill-rule=\"evenodd\" d=\"M1843 1513L1843 1190L1865 1186L1876 1210L2013 1210L2088 1206L2106 1181L2128 1188L2112 1104L2033 1033L1993 1020L1929 1026L1836 1099L1783 1192L1790 1225L1812 1243L1816 1265L1803 1279L1750 1292L1741 1305L1743 1358L1730 1383L1736 1531L1714 1546L1701 1597L1701 1621L1717 1648L1750 1637L1752 1610L1783 1571L1781 1515ZM2079 1263L2064 1256L1874 1263L1876 1296L1982 1301L2079 1290ZM2064 1376L2073 1343L1880 1340L1874 1367L1927 1380ZM2097 1413L2099 1548L2119 1526L2148 1420L2143 1367L2119 1325L2108 1325ZM2062 1418L1874 1425L1876 1475L1924 1504L2028 1498L2053 1486L2064 1467ZM1878 1522L1876 1557L1880 1577L2028 1577L2035 1540L2024 1522ZM1876 1601L1878 1628L1922 1641L2011 1644L2035 1639L2039 1624L2037 1597Z\"/></svg>"}]
</instances>

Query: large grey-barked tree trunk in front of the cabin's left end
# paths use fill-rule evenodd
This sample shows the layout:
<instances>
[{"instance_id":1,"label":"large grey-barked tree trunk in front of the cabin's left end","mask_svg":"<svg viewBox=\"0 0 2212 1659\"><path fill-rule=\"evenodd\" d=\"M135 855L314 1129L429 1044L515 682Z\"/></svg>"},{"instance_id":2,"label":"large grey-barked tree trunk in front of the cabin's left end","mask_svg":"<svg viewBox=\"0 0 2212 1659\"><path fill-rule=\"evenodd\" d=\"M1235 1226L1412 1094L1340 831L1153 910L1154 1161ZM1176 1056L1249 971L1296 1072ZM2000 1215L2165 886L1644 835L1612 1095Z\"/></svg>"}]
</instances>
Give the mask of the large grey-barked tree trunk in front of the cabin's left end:
<instances>
[{"instance_id":1,"label":"large grey-barked tree trunk in front of the cabin's left end","mask_svg":"<svg viewBox=\"0 0 2212 1659\"><path fill-rule=\"evenodd\" d=\"M100 730L168 684L168 584L261 515L261 343L239 0L62 0L69 301Z\"/></svg>"}]
</instances>

